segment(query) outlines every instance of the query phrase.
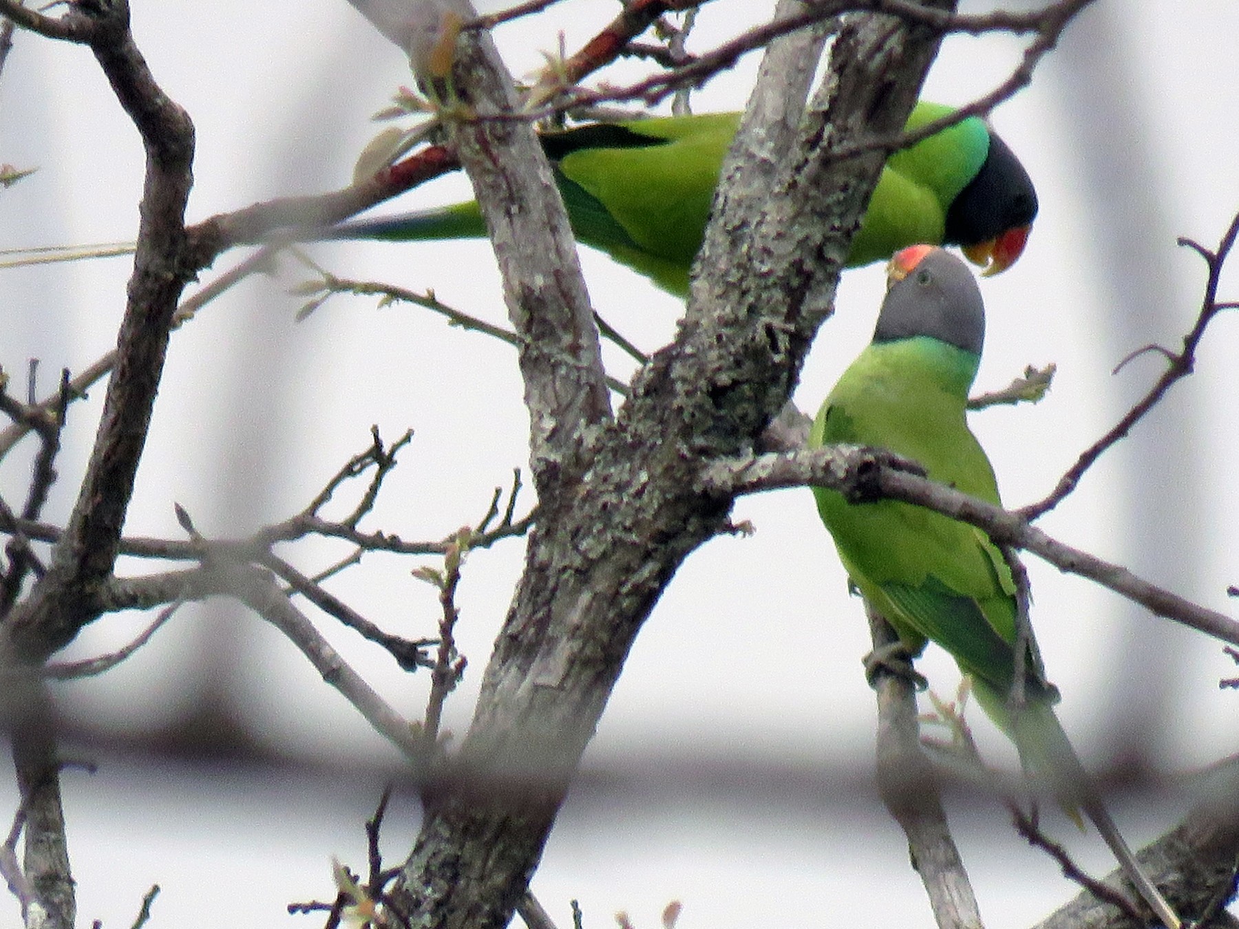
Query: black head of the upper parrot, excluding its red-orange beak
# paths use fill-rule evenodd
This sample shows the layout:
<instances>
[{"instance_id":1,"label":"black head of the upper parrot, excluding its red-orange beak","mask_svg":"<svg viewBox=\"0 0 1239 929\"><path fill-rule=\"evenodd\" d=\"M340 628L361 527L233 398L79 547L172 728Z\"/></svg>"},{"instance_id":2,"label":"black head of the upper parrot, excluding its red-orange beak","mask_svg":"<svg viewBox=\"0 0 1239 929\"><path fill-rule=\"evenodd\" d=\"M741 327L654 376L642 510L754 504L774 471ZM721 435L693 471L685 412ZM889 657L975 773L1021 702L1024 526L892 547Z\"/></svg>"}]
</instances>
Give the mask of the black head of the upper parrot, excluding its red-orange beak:
<instances>
[{"instance_id":1,"label":"black head of the upper parrot, excluding its red-orange beak","mask_svg":"<svg viewBox=\"0 0 1239 929\"><path fill-rule=\"evenodd\" d=\"M1020 159L990 133L990 151L976 177L947 211L943 240L948 245L979 245L1032 223L1037 191Z\"/></svg>"}]
</instances>

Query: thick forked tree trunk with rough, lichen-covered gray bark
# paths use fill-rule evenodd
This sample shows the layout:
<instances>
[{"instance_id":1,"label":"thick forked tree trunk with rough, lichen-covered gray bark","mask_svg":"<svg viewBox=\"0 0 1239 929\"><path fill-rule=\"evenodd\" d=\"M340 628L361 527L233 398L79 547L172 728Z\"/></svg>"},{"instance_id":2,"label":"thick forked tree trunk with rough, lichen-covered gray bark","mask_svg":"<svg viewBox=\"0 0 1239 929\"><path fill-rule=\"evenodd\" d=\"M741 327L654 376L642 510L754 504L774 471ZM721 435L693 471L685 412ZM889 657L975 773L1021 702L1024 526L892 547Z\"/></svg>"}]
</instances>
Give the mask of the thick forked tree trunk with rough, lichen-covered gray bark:
<instances>
[{"instance_id":1,"label":"thick forked tree trunk with rough, lichen-covered gray bark","mask_svg":"<svg viewBox=\"0 0 1239 929\"><path fill-rule=\"evenodd\" d=\"M593 394L598 372L579 369L593 364L579 329L551 333L563 349L554 358L523 363L527 395L558 404L549 425L545 408L532 409L539 523L473 722L452 769L425 792L399 896L414 925L510 919L637 632L680 562L725 525L730 498L703 491L699 474L753 447L828 313L883 161L877 150L849 160L831 150L901 129L937 45L928 30L888 16L851 19L817 100L797 120L794 149L782 149L792 157L779 159L766 133L787 133L793 120L781 119L781 130L746 121L724 166L678 338L637 378L615 420ZM456 83L471 105L507 104L488 48L467 48L461 64ZM536 161L529 141L523 130L492 133L476 152L461 152L492 229L496 217L543 209L515 193L518 175ZM520 154L509 155L509 142ZM544 228L527 248L554 254L554 238ZM546 334L546 313L580 325L570 299L536 296L546 271L513 253L501 251L501 265L519 332ZM560 389L548 393L548 384Z\"/></svg>"}]
</instances>

